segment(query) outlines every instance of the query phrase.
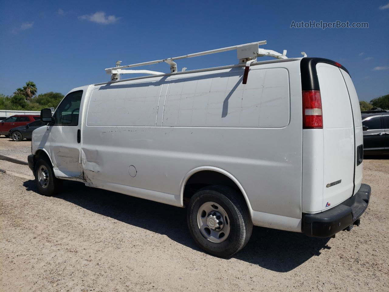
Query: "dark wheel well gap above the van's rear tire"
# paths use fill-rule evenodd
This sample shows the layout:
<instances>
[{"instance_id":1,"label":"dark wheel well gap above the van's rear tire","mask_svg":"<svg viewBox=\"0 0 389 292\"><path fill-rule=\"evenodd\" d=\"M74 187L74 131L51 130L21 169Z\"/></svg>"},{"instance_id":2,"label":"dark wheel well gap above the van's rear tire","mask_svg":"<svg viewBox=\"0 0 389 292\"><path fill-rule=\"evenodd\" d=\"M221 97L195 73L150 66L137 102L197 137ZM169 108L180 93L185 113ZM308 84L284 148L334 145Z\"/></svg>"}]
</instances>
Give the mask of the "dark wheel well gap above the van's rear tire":
<instances>
[{"instance_id":1,"label":"dark wheel well gap above the van's rear tire","mask_svg":"<svg viewBox=\"0 0 389 292\"><path fill-rule=\"evenodd\" d=\"M232 188L243 200L247 209L249 209L245 197L235 181L221 172L211 170L198 171L192 174L192 176L186 181L183 195L184 206L187 205L191 197L198 192L198 190L211 185L223 185Z\"/></svg>"}]
</instances>

